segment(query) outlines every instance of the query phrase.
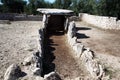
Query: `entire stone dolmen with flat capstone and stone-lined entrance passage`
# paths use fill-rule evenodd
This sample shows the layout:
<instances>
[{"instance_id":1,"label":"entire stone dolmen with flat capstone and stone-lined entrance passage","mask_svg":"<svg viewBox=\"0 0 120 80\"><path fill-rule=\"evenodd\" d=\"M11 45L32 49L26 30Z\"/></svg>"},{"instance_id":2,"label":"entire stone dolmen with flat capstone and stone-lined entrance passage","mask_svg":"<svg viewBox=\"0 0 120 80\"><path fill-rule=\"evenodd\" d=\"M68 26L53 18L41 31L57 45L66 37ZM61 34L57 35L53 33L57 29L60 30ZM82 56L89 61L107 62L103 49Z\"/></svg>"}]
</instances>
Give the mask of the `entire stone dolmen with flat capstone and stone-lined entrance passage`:
<instances>
[{"instance_id":1,"label":"entire stone dolmen with flat capstone and stone-lined entrance passage","mask_svg":"<svg viewBox=\"0 0 120 80\"><path fill-rule=\"evenodd\" d=\"M17 67L17 73L29 76L15 77L16 66L12 65L4 80L104 80L104 69L94 52L77 42L75 22L69 20L74 12L46 8L37 11L43 14L37 50L23 60L22 68Z\"/></svg>"}]
</instances>

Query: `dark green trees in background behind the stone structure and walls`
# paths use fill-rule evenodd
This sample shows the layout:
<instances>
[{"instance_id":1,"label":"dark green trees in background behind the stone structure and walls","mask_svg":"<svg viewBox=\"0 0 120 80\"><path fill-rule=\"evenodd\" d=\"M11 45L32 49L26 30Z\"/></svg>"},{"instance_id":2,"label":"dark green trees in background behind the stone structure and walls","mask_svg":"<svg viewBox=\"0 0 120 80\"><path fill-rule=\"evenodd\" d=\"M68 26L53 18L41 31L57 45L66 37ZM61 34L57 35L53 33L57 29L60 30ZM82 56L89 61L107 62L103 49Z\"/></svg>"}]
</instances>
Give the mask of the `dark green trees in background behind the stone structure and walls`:
<instances>
[{"instance_id":1,"label":"dark green trees in background behind the stone structure and walls","mask_svg":"<svg viewBox=\"0 0 120 80\"><path fill-rule=\"evenodd\" d=\"M114 16L120 19L120 0L55 0L54 3L45 0L0 0L0 12L39 14L37 8L71 9L76 14L90 13L93 15Z\"/></svg>"}]
</instances>

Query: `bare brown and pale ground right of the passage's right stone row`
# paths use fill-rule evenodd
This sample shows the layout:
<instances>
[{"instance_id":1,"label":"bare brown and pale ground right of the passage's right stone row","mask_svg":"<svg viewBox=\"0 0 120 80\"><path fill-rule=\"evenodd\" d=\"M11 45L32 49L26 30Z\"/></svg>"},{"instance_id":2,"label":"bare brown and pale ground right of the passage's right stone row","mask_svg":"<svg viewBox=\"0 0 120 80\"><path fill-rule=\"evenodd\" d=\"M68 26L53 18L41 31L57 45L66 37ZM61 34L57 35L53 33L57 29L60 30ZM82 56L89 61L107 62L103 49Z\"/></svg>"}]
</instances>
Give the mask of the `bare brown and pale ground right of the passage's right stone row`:
<instances>
[{"instance_id":1,"label":"bare brown and pale ground right of the passage's right stone row","mask_svg":"<svg viewBox=\"0 0 120 80\"><path fill-rule=\"evenodd\" d=\"M107 74L112 79L120 78L120 32L119 30L103 30L87 24L76 22L78 41L91 48L96 57L104 64Z\"/></svg>"}]
</instances>

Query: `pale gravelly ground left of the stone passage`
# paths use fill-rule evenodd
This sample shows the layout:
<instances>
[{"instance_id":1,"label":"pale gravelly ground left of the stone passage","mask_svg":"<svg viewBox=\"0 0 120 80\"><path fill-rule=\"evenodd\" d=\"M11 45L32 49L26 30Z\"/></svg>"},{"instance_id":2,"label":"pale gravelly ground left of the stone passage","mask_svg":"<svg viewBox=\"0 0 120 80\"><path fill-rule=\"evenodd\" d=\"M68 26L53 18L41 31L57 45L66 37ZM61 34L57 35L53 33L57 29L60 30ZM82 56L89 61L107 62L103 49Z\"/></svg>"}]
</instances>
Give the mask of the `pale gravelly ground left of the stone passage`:
<instances>
[{"instance_id":1,"label":"pale gravelly ground left of the stone passage","mask_svg":"<svg viewBox=\"0 0 120 80\"><path fill-rule=\"evenodd\" d=\"M0 80L12 63L23 62L37 49L40 21L15 21L0 24Z\"/></svg>"}]
</instances>

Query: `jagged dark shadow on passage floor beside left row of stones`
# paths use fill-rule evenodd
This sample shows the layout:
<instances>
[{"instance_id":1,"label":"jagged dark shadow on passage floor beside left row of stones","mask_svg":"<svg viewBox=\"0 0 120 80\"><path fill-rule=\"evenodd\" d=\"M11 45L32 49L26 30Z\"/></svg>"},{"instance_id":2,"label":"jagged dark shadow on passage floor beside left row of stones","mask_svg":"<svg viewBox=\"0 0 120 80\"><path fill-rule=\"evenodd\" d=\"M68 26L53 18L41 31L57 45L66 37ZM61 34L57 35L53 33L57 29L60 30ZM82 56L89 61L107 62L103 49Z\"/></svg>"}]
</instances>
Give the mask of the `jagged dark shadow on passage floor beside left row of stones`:
<instances>
[{"instance_id":1,"label":"jagged dark shadow on passage floor beside left row of stones","mask_svg":"<svg viewBox=\"0 0 120 80\"><path fill-rule=\"evenodd\" d=\"M59 46L59 45L53 42L51 36L61 36L63 34L64 34L63 32L48 32L45 35L43 75L55 71L55 64L53 63L55 56L53 52L55 51L55 46Z\"/></svg>"}]
</instances>

